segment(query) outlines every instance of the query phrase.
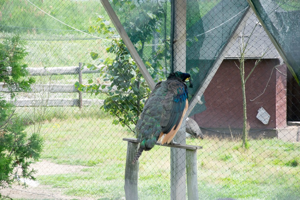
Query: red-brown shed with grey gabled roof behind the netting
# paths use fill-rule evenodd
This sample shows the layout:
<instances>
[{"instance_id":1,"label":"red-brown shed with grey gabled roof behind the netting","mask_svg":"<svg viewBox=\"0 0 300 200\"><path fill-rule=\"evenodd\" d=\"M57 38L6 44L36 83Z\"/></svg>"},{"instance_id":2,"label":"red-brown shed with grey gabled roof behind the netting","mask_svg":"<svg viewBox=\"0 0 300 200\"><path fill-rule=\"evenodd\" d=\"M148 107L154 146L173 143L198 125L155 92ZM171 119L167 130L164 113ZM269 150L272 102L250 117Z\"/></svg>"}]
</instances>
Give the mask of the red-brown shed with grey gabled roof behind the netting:
<instances>
[{"instance_id":1,"label":"red-brown shed with grey gabled roof behind the netting","mask_svg":"<svg viewBox=\"0 0 300 200\"><path fill-rule=\"evenodd\" d=\"M250 37L250 34L253 34ZM250 72L255 61L266 52L246 83L247 120L250 136L279 137L285 140L299 140L299 128L288 126L289 121L300 121L299 86L288 73L277 50L271 43L253 13L247 20L245 40L250 37L245 61L245 74ZM229 136L241 134L243 127L241 78L238 69L240 56L238 40L230 50L210 84L204 92L206 110L193 115L203 133ZM287 81L288 79L288 81ZM287 93L286 93L287 91ZM287 95L288 94L288 95ZM256 116L260 108L270 115L267 124ZM292 124L295 125L295 124Z\"/></svg>"}]
</instances>

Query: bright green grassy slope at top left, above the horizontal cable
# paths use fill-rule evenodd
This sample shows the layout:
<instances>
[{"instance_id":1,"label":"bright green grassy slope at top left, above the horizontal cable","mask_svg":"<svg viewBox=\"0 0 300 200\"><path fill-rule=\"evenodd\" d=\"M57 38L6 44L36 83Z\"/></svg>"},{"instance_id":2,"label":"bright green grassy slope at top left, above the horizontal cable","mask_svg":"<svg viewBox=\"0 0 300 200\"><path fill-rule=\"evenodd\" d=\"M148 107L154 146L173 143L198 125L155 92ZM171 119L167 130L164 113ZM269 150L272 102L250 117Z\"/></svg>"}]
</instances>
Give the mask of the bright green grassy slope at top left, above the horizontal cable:
<instances>
[{"instance_id":1,"label":"bright green grassy slope at top left, above the horizontal cable","mask_svg":"<svg viewBox=\"0 0 300 200\"><path fill-rule=\"evenodd\" d=\"M104 13L100 1L31 0L31 2L51 16L80 30L86 30L95 22L97 17L94 15L95 13ZM54 30L72 30L46 15L33 4L22 0L1 0L1 25L10 30L15 27L21 29L22 32L37 34ZM105 17L109 19L108 16Z\"/></svg>"}]
</instances>

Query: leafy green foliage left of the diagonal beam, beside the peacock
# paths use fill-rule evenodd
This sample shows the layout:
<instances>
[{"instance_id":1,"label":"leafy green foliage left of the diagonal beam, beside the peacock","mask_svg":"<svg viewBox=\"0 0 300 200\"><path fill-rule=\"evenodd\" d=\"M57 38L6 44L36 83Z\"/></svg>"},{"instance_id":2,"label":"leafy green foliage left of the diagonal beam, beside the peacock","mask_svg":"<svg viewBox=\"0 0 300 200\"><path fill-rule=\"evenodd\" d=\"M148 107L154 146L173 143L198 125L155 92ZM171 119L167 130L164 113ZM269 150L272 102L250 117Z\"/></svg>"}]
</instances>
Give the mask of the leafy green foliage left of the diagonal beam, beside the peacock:
<instances>
[{"instance_id":1,"label":"leafy green foliage left of the diagonal beam, beside the peacock","mask_svg":"<svg viewBox=\"0 0 300 200\"><path fill-rule=\"evenodd\" d=\"M100 68L101 79L110 84L97 84L90 79L88 84L76 82L75 86L79 91L95 95L105 94L106 98L101 109L117 117L113 124L121 124L132 130L130 126L137 123L143 104L151 91L122 39L115 34L115 28L111 27L102 16L98 17L98 22L100 25L90 26L88 30L91 33L109 34L108 37L113 40L106 51L115 57L101 59L98 53L89 52L91 59L98 63L88 63L84 66L91 70Z\"/></svg>"}]
</instances>

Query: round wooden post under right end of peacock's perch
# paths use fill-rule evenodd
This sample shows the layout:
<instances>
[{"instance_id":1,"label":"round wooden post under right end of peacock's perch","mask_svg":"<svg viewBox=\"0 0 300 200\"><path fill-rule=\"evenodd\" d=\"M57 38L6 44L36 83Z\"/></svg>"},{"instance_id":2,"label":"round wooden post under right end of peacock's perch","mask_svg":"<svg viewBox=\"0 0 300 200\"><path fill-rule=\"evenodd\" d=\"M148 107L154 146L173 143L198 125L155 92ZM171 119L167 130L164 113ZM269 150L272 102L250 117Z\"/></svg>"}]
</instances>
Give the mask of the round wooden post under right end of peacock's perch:
<instances>
[{"instance_id":1,"label":"round wooden post under right end of peacock's perch","mask_svg":"<svg viewBox=\"0 0 300 200\"><path fill-rule=\"evenodd\" d=\"M186 150L187 199L198 200L197 150Z\"/></svg>"}]
</instances>

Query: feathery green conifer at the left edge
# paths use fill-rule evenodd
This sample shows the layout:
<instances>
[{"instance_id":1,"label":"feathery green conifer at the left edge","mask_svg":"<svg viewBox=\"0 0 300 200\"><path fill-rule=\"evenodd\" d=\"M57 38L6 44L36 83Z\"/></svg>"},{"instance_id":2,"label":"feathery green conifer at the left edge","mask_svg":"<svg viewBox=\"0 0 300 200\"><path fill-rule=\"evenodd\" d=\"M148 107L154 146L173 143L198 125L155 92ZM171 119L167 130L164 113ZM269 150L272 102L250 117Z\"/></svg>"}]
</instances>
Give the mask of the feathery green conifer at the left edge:
<instances>
[{"instance_id":1,"label":"feathery green conifer at the left edge","mask_svg":"<svg viewBox=\"0 0 300 200\"><path fill-rule=\"evenodd\" d=\"M0 43L1 87L10 91L11 99L15 91L29 91L35 82L27 78L29 72L23 59L27 55L26 43L19 36L6 38ZM36 172L30 165L40 158L43 139L38 133L28 135L26 126L14 113L15 106L0 95L0 187L10 187L14 182L26 186L26 179L35 180ZM0 193L0 198L5 198ZM9 198L9 197L8 197Z\"/></svg>"}]
</instances>

